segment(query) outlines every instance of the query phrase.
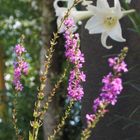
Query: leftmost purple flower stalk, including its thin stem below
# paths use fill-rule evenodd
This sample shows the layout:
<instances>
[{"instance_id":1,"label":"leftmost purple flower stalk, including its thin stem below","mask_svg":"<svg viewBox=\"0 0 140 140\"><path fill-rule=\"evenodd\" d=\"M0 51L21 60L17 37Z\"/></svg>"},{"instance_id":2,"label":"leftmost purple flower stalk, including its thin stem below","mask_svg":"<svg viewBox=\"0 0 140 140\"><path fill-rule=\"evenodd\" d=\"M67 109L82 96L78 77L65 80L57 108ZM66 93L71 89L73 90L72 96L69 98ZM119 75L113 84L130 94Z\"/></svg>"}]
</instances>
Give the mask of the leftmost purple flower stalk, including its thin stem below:
<instances>
[{"instance_id":1,"label":"leftmost purple flower stalk, including its thin stem below","mask_svg":"<svg viewBox=\"0 0 140 140\"><path fill-rule=\"evenodd\" d=\"M14 53L16 55L16 61L14 62L14 80L13 85L15 88L15 95L13 101L13 110L12 110L12 119L13 126L16 132L16 137L18 140L22 140L23 137L19 134L19 128L17 126L17 98L18 94L23 90L23 85L21 83L21 76L27 75L29 70L29 64L25 61L24 54L26 53L26 49L23 46L24 36L21 37L20 43L17 44L14 48Z\"/></svg>"}]
</instances>

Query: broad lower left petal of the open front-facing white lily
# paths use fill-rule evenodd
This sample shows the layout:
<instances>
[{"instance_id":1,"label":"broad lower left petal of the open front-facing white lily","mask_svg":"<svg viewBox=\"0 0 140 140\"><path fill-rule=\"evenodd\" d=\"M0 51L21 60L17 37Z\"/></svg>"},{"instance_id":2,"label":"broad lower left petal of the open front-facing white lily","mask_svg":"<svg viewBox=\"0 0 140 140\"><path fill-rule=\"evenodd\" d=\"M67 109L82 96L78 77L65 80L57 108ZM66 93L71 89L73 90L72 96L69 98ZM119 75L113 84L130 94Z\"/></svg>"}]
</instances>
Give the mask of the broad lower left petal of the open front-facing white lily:
<instances>
[{"instance_id":1,"label":"broad lower left petal of the open front-facing white lily","mask_svg":"<svg viewBox=\"0 0 140 140\"><path fill-rule=\"evenodd\" d=\"M100 16L93 16L92 18L90 18L87 21L85 28L89 30L90 34L105 32L103 20Z\"/></svg>"}]
</instances>

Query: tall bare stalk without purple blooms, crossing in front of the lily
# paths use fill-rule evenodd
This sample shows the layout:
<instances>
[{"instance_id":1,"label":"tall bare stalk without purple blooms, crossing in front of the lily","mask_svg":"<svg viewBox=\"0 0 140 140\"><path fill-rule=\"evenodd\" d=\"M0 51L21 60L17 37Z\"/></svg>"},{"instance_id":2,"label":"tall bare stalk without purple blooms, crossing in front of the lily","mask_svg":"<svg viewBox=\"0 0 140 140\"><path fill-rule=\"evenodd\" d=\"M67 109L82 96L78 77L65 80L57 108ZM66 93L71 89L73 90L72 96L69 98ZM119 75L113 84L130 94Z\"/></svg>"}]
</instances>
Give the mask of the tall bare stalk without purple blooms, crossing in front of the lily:
<instances>
[{"instance_id":1,"label":"tall bare stalk without purple blooms, crossing in front of the lily","mask_svg":"<svg viewBox=\"0 0 140 140\"><path fill-rule=\"evenodd\" d=\"M63 25L64 20L69 16L71 9L75 7L79 2L80 0L74 0L72 6L69 9L67 9L64 18L62 18L61 23L57 29L57 32L53 33L53 37L50 40L50 48L48 49L48 55L46 56L46 60L44 62L45 69L42 71L42 74L40 76L40 87L38 89L37 101L35 102L35 108L33 112L34 120L31 121L31 126L33 130L32 133L31 132L29 133L29 140L37 140L38 131L42 125L42 119L40 120L40 117L42 117L40 108L41 108L42 100L44 99L44 95L45 95L44 90L46 87L47 74L51 65L51 60L52 60L53 52L55 50L55 45L57 44L57 39L59 37L59 30Z\"/></svg>"}]
</instances>

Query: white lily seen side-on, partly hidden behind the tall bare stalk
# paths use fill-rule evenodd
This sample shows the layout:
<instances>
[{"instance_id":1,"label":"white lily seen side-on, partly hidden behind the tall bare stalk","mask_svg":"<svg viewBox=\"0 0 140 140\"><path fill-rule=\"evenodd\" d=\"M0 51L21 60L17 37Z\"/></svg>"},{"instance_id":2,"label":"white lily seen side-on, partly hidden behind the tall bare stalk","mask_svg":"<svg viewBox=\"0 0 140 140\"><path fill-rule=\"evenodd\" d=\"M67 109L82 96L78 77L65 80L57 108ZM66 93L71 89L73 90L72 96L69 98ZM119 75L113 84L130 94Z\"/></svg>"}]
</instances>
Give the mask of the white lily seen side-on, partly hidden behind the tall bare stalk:
<instances>
[{"instance_id":1,"label":"white lily seen side-on, partly hidden behind the tall bare stalk","mask_svg":"<svg viewBox=\"0 0 140 140\"><path fill-rule=\"evenodd\" d=\"M67 2L67 7L59 7L58 2ZM60 26L62 19L64 18L64 15L66 14L67 10L73 5L74 0L55 0L54 1L54 8L55 8L55 13L57 16L57 27ZM75 25L79 23L79 25L82 23L81 20L90 18L93 16L92 11L77 11L75 7L73 7L70 11L69 17L73 18ZM77 30L78 26L75 26L73 29L73 32ZM64 32L65 26L62 24L61 28L59 29L59 33Z\"/></svg>"}]
</instances>

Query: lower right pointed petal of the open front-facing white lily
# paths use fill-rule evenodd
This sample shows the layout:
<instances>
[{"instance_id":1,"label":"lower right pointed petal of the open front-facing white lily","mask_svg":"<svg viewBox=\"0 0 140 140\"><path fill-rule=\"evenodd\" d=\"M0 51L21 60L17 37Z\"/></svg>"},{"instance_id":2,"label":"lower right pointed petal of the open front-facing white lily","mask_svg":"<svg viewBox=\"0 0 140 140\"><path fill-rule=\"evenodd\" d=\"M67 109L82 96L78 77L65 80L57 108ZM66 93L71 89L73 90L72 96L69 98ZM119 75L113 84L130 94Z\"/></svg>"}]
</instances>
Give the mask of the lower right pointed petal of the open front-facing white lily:
<instances>
[{"instance_id":1,"label":"lower right pointed petal of the open front-facing white lily","mask_svg":"<svg viewBox=\"0 0 140 140\"><path fill-rule=\"evenodd\" d=\"M116 23L116 26L108 33L108 35L118 42L125 42L126 39L122 37L122 29L119 21Z\"/></svg>"}]
</instances>

